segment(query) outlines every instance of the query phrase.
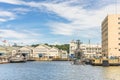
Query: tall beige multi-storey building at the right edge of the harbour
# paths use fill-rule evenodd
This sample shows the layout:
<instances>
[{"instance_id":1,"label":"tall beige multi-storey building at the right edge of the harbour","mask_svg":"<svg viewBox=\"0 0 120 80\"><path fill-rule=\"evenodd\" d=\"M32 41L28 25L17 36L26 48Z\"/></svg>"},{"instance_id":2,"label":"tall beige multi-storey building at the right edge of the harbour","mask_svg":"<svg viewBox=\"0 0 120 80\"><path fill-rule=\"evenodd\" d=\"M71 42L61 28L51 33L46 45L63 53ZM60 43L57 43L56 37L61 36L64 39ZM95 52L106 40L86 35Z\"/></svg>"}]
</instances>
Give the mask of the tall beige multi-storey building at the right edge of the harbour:
<instances>
[{"instance_id":1,"label":"tall beige multi-storey building at the right edge of the harbour","mask_svg":"<svg viewBox=\"0 0 120 80\"><path fill-rule=\"evenodd\" d=\"M120 56L120 14L108 15L102 22L102 54L107 58Z\"/></svg>"}]
</instances>

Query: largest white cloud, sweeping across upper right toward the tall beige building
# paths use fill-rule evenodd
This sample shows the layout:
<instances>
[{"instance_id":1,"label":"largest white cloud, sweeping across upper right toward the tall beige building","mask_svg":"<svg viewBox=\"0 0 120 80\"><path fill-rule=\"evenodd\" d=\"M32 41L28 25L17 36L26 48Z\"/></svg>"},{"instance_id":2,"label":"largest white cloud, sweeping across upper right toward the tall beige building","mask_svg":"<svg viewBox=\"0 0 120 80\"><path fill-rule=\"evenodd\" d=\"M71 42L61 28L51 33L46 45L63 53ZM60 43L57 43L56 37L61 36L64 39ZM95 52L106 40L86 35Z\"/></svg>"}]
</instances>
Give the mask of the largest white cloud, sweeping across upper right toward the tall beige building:
<instances>
[{"instance_id":1,"label":"largest white cloud, sweeping across upper right toward the tall beige building","mask_svg":"<svg viewBox=\"0 0 120 80\"><path fill-rule=\"evenodd\" d=\"M85 34L80 32L79 35L86 35L93 31L92 28L100 29L101 22L107 14L115 14L116 12L115 4L109 4L98 9L85 9L81 5L72 6L66 2L39 3L39 5L46 7L48 12L51 11L70 21L70 23L50 22L48 24L53 31L52 33L60 35L73 35L79 30L85 30ZM120 7L120 4L117 4L117 7ZM117 8L117 13L120 13L120 8Z\"/></svg>"}]
</instances>

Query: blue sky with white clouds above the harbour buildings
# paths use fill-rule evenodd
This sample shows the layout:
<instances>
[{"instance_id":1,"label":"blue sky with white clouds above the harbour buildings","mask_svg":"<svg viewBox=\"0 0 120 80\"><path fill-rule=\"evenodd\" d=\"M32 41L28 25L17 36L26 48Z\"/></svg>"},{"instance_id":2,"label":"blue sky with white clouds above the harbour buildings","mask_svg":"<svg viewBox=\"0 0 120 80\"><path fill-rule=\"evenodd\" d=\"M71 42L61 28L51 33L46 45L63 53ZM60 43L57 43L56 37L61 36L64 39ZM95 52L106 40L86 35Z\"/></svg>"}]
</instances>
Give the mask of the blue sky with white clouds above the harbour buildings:
<instances>
[{"instance_id":1,"label":"blue sky with white clouds above the harbour buildings","mask_svg":"<svg viewBox=\"0 0 120 80\"><path fill-rule=\"evenodd\" d=\"M101 44L101 22L119 0L0 0L0 44Z\"/></svg>"}]
</instances>

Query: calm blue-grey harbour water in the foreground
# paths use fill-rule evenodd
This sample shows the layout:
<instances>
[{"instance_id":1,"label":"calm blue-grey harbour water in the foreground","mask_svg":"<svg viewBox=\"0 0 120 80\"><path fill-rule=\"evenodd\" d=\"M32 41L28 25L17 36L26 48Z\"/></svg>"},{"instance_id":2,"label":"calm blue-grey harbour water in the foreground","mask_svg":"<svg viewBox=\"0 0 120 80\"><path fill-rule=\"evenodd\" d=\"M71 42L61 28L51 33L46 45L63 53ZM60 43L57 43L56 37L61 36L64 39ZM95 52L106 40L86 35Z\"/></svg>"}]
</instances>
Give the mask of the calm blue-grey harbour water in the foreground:
<instances>
[{"instance_id":1,"label":"calm blue-grey harbour water in the foreground","mask_svg":"<svg viewBox=\"0 0 120 80\"><path fill-rule=\"evenodd\" d=\"M64 61L0 64L0 80L120 80L120 67Z\"/></svg>"}]
</instances>

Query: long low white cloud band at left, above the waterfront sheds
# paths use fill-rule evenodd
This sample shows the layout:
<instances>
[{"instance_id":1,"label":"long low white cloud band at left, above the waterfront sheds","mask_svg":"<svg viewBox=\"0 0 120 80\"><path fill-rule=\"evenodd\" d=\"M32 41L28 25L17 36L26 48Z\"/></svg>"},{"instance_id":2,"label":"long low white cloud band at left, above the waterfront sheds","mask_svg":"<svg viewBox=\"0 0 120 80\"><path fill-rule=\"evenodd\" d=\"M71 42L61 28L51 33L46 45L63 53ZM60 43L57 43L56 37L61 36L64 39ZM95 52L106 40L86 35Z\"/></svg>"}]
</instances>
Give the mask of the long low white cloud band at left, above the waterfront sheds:
<instances>
[{"instance_id":1,"label":"long low white cloud band at left, above the waterfront sheds","mask_svg":"<svg viewBox=\"0 0 120 80\"><path fill-rule=\"evenodd\" d=\"M15 31L10 29L0 29L0 37L3 38L23 39L23 38L32 38L36 36L42 36L42 34L28 30Z\"/></svg>"}]
</instances>

